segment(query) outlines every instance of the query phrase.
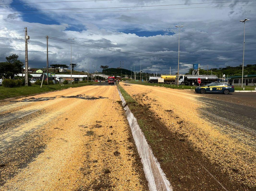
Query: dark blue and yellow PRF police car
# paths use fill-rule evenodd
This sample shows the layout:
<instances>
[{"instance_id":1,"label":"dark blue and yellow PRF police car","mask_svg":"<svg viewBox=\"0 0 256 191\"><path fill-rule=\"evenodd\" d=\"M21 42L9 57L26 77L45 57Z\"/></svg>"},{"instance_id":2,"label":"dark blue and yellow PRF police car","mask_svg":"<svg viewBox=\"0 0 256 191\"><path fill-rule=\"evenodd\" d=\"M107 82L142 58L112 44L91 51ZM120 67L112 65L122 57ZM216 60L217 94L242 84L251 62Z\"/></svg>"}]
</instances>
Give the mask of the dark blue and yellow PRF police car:
<instances>
[{"instance_id":1,"label":"dark blue and yellow PRF police car","mask_svg":"<svg viewBox=\"0 0 256 191\"><path fill-rule=\"evenodd\" d=\"M234 86L224 83L210 83L205 86L196 87L195 92L197 93L224 93L229 94L234 92Z\"/></svg>"}]
</instances>

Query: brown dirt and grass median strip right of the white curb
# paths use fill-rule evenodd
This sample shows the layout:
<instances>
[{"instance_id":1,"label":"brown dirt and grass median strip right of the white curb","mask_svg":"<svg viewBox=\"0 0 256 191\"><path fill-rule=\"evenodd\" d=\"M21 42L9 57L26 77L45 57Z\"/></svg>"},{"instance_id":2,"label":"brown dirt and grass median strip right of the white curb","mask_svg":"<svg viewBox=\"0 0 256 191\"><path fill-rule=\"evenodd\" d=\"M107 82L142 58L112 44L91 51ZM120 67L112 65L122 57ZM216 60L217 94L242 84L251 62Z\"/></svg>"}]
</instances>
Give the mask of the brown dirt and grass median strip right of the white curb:
<instances>
[{"instance_id":1,"label":"brown dirt and grass median strip right of the white curb","mask_svg":"<svg viewBox=\"0 0 256 191\"><path fill-rule=\"evenodd\" d=\"M158 115L148 109L150 105L138 103L118 87L174 190L217 190L220 184L216 180L221 180L225 187L234 186L219 166L194 148L182 131L168 130ZM188 124L179 126L182 125Z\"/></svg>"}]
</instances>

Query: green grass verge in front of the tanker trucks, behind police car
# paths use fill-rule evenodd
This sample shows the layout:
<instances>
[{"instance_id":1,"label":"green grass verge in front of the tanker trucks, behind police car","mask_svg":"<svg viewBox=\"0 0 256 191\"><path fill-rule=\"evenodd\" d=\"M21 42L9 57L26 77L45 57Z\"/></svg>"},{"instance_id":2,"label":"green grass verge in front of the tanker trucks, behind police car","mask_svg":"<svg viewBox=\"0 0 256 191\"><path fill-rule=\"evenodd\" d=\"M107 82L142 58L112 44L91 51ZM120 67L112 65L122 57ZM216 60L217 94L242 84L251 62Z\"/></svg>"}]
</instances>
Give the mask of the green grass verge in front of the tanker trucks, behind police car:
<instances>
[{"instance_id":1,"label":"green grass verge in front of the tanker trucks, behind police car","mask_svg":"<svg viewBox=\"0 0 256 191\"><path fill-rule=\"evenodd\" d=\"M130 83L132 84L141 84L141 85L145 85L145 86L159 86L159 87L166 87L166 88L172 88L172 89L195 89L197 86L182 86L182 85L179 85L179 87L175 84L151 84L151 83L148 83L148 82L134 82L134 81L130 81ZM235 90L243 90L241 88L241 86L234 86L235 87ZM244 90L254 90L254 86L244 86Z\"/></svg>"}]
</instances>

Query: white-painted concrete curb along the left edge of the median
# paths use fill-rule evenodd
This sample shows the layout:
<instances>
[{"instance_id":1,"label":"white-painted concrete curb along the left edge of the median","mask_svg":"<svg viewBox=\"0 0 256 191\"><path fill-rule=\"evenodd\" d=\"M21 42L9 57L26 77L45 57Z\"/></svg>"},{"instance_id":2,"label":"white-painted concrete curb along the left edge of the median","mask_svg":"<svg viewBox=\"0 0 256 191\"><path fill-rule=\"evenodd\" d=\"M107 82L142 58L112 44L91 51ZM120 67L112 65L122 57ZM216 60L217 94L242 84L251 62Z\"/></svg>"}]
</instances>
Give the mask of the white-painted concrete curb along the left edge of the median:
<instances>
[{"instance_id":1,"label":"white-painted concrete curb along the left edge of the median","mask_svg":"<svg viewBox=\"0 0 256 191\"><path fill-rule=\"evenodd\" d=\"M160 167L159 162L155 158L152 149L148 145L146 138L137 123L137 119L132 114L128 105L124 100L119 88L117 87L119 96L124 106L126 118L129 122L132 136L137 147L138 154L141 158L143 165L143 171L148 181L148 188L150 191L172 191L169 181L167 180L163 170Z\"/></svg>"}]
</instances>

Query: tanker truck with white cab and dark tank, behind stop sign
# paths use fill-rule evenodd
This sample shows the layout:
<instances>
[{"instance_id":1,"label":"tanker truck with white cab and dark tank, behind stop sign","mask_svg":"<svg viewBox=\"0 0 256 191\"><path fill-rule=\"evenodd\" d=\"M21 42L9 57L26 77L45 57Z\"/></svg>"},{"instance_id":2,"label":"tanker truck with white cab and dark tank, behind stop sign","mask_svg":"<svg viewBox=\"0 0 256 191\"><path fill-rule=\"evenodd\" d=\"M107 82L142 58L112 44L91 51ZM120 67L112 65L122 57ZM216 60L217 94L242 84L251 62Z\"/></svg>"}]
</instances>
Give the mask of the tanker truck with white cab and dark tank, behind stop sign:
<instances>
[{"instance_id":1,"label":"tanker truck with white cab and dark tank, behind stop sign","mask_svg":"<svg viewBox=\"0 0 256 191\"><path fill-rule=\"evenodd\" d=\"M217 82L218 77L216 75L180 75L179 76L179 85L186 85L186 86L199 86L197 79L201 79L200 86L204 86L206 84ZM178 83L178 76L175 78L175 84Z\"/></svg>"}]
</instances>

